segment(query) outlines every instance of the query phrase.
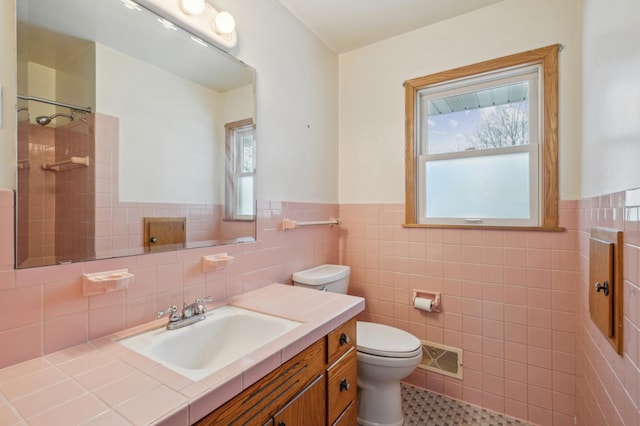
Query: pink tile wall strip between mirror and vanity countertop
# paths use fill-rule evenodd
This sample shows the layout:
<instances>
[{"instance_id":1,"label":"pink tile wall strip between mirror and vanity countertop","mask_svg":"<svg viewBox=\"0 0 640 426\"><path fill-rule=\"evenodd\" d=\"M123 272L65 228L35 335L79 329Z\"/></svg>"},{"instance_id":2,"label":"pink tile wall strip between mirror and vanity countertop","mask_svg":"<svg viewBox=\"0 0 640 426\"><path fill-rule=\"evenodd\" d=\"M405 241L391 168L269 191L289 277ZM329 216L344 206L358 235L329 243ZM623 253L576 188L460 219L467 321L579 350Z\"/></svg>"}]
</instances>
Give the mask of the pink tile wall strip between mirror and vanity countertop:
<instances>
[{"instance_id":1,"label":"pink tile wall strip between mirror and vanity countertop","mask_svg":"<svg viewBox=\"0 0 640 426\"><path fill-rule=\"evenodd\" d=\"M0 368L148 322L172 304L221 301L338 261L337 227L281 230L284 217L326 220L337 205L259 202L255 243L14 270L13 206L14 192L0 189ZM201 257L223 251L234 262L203 273ZM83 273L122 268L136 276L126 291L82 296Z\"/></svg>"}]
</instances>

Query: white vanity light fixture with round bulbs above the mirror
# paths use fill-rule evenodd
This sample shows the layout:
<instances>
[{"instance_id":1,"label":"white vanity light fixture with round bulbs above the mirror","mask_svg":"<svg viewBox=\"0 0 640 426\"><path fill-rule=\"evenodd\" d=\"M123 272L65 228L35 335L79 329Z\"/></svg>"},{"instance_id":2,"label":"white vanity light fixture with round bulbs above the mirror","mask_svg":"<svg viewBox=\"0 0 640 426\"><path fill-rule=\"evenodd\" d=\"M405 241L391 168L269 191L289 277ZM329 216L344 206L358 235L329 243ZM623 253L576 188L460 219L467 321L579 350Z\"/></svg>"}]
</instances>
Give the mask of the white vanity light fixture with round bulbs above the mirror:
<instances>
[{"instance_id":1,"label":"white vanity light fixture with round bulbs above the mirror","mask_svg":"<svg viewBox=\"0 0 640 426\"><path fill-rule=\"evenodd\" d=\"M208 0L136 0L136 3L224 50L233 49L238 43L233 16L216 10Z\"/></svg>"}]
</instances>

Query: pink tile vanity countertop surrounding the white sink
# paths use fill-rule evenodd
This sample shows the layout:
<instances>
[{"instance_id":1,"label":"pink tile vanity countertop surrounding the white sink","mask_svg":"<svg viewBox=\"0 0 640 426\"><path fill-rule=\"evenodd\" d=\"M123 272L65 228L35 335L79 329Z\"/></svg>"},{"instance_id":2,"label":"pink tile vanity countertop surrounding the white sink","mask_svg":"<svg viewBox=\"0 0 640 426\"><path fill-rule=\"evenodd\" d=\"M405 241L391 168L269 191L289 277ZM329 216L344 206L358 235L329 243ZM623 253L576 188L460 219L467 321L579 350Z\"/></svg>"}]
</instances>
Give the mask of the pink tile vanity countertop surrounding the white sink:
<instances>
[{"instance_id":1,"label":"pink tile vanity countertop surrounding the white sink","mask_svg":"<svg viewBox=\"0 0 640 426\"><path fill-rule=\"evenodd\" d=\"M360 297L285 284L225 304L302 324L197 382L117 343L166 319L12 365L0 370L0 424L189 425L364 310Z\"/></svg>"}]
</instances>

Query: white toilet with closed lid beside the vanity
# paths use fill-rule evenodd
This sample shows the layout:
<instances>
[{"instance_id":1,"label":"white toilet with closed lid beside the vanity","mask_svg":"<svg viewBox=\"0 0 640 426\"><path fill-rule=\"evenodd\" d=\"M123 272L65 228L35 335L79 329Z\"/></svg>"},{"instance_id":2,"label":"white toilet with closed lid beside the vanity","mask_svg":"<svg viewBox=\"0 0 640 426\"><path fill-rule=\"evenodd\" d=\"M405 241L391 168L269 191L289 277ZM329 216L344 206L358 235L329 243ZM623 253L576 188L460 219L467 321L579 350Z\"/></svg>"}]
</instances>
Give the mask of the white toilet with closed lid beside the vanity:
<instances>
[{"instance_id":1,"label":"white toilet with closed lid beside the vanity","mask_svg":"<svg viewBox=\"0 0 640 426\"><path fill-rule=\"evenodd\" d=\"M351 268L321 265L293 274L293 285L347 294ZM358 424L402 426L400 380L422 359L417 337L384 324L358 321Z\"/></svg>"}]
</instances>

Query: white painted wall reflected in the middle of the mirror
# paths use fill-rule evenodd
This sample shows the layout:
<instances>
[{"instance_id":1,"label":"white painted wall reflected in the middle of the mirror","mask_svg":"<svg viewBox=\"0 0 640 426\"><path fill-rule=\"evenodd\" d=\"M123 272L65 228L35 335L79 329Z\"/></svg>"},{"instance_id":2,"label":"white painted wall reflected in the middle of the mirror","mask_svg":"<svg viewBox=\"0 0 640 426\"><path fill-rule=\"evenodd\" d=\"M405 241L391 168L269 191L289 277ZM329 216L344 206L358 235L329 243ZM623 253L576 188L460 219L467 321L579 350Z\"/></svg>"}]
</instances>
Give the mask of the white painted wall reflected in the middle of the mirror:
<instances>
[{"instance_id":1,"label":"white painted wall reflected in the middle of the mirror","mask_svg":"<svg viewBox=\"0 0 640 426\"><path fill-rule=\"evenodd\" d=\"M96 110L119 118L120 201L223 203L222 95L99 44L96 61Z\"/></svg>"}]
</instances>

